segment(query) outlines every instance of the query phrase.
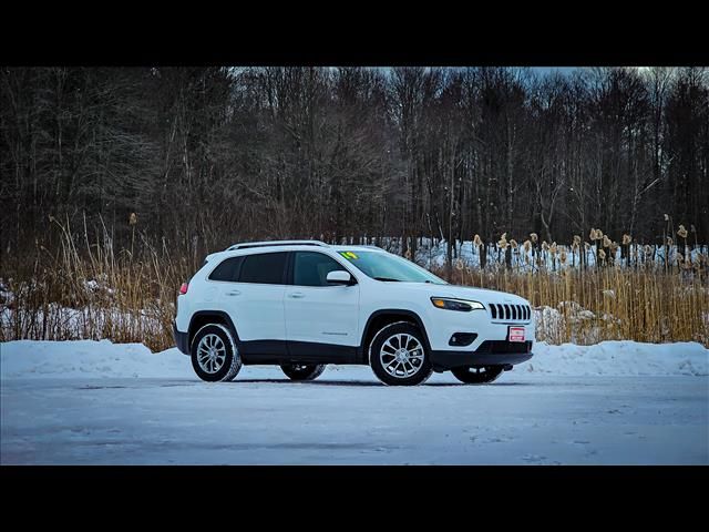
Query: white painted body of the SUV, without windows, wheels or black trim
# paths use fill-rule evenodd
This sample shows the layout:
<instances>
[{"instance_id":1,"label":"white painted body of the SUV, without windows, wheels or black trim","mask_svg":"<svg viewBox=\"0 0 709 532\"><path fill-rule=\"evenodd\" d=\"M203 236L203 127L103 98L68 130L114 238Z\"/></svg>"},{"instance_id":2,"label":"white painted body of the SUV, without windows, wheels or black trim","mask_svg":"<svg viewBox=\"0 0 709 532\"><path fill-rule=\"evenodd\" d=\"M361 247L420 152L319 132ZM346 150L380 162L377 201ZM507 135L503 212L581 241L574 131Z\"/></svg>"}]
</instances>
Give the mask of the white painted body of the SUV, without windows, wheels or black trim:
<instances>
[{"instance_id":1,"label":"white painted body of the SUV, without windows, wheels or black trim","mask_svg":"<svg viewBox=\"0 0 709 532\"><path fill-rule=\"evenodd\" d=\"M280 285L249 285L206 279L216 264L227 257L273 253L274 250L322 253L351 272L358 280L356 285L359 300L357 315L353 316L350 307L356 301L352 287L308 288L292 286L284 288ZM432 305L431 297L477 300L484 305L491 303L530 305L526 299L516 295L481 288L376 280L342 258L339 254L342 250L387 253L360 246L289 245L227 250L209 255L209 262L189 280L188 293L178 297L177 328L181 331L186 331L189 317L197 310L226 310L232 316L243 340L280 340L286 338L287 329L287 337L292 340L358 346L367 320L374 311L400 309L409 310L420 317L432 349L470 351L476 349L485 340L504 340L507 336L507 325L493 323L487 309L461 313L436 308ZM216 304L206 300L203 296L204 291L213 289L215 285L220 290ZM234 287L242 290L242 294L235 297L225 297L225 293ZM292 294L299 294L301 297L296 300L290 297ZM279 295L282 295L284 299L279 300ZM187 301L189 304L186 304ZM527 338L534 338L534 320L518 325L525 327ZM323 335L326 331L341 331L347 335ZM449 339L454 332L476 332L477 338L471 346L451 347Z\"/></svg>"}]
</instances>

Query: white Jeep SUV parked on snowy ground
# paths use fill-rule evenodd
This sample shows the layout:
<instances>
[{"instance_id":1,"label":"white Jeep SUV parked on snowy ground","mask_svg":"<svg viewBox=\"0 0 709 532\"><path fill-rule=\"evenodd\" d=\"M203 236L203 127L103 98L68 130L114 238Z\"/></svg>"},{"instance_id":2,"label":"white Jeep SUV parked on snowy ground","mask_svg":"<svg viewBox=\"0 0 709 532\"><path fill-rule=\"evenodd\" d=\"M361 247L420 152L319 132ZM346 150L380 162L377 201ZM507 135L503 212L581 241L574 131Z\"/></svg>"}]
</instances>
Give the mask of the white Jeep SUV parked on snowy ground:
<instances>
[{"instance_id":1,"label":"white Jeep SUV parked on snowy ground","mask_svg":"<svg viewBox=\"0 0 709 532\"><path fill-rule=\"evenodd\" d=\"M530 303L453 286L370 246L236 244L206 257L177 297L175 341L201 379L279 365L294 380L327 364L370 365L387 385L451 370L491 382L532 357Z\"/></svg>"}]
</instances>

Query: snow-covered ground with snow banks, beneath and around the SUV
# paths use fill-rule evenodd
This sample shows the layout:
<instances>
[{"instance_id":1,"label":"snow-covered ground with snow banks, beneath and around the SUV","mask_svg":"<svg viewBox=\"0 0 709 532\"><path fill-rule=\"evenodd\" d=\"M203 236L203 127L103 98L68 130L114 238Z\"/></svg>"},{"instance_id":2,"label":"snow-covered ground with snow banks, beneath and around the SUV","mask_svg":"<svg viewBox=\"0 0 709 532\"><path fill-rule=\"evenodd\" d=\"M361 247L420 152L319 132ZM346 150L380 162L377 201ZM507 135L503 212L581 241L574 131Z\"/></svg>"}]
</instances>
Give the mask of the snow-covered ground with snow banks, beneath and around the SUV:
<instances>
[{"instance_id":1,"label":"snow-covered ground with snow banks, beneath and around the SUV","mask_svg":"<svg viewBox=\"0 0 709 532\"><path fill-rule=\"evenodd\" d=\"M489 386L368 367L206 383L176 349L0 344L2 464L709 464L709 350L535 345Z\"/></svg>"}]
</instances>

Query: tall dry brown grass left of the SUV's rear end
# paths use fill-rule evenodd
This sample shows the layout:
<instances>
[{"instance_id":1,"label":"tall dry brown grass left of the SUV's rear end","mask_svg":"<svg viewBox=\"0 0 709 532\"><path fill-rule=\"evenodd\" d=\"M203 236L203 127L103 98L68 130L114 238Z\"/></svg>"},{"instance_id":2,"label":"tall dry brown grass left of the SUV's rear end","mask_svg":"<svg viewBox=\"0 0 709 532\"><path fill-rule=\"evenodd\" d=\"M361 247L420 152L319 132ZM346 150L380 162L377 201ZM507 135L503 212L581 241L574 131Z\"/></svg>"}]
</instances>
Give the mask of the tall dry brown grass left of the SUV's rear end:
<instances>
[{"instance_id":1,"label":"tall dry brown grass left of the SUV's rear end","mask_svg":"<svg viewBox=\"0 0 709 532\"><path fill-rule=\"evenodd\" d=\"M198 268L196 257L175 259L142 234L133 250L115 252L105 227L90 242L85 226L76 234L68 222L52 223L61 232L58 252L37 244L31 260L3 266L0 341L107 338L171 347L177 288Z\"/></svg>"}]
</instances>

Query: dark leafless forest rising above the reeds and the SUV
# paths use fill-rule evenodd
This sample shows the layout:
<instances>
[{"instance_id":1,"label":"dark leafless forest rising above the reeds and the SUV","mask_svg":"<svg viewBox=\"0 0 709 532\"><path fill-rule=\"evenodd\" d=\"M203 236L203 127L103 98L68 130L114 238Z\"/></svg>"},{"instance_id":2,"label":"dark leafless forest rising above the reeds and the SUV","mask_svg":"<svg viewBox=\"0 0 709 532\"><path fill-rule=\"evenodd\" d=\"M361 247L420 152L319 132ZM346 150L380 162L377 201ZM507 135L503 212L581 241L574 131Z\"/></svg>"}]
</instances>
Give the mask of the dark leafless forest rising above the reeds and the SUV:
<instances>
[{"instance_id":1,"label":"dark leafless forest rising above the reeds and the SUV","mask_svg":"<svg viewBox=\"0 0 709 532\"><path fill-rule=\"evenodd\" d=\"M709 236L707 69L3 68L0 89L6 258L84 215L119 247L141 232L188 255L592 227L660 243L665 213Z\"/></svg>"}]
</instances>

